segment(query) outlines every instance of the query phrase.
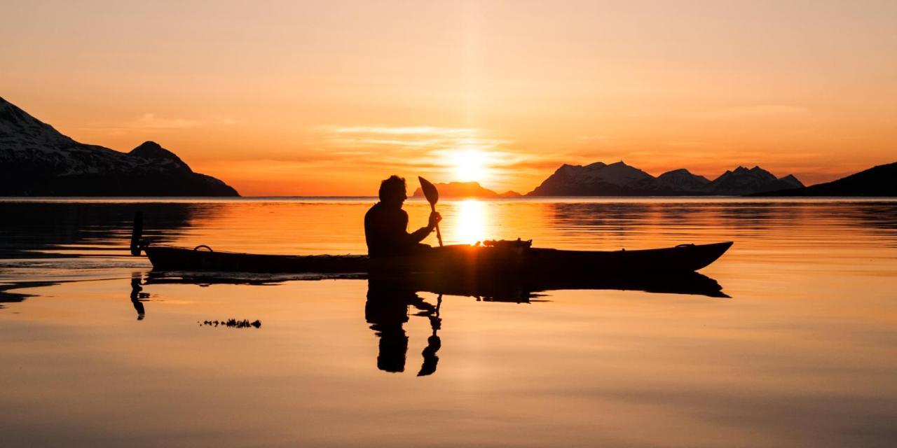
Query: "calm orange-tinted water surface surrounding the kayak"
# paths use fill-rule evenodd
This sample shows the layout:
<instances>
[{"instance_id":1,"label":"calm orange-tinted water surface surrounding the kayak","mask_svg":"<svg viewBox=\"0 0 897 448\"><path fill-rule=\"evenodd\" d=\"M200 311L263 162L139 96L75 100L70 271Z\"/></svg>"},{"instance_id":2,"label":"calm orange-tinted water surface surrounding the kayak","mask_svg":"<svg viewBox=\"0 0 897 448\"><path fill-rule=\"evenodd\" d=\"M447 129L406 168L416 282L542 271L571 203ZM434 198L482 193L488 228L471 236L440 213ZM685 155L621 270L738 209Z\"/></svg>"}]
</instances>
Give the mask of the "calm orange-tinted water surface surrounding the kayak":
<instances>
[{"instance_id":1,"label":"calm orange-tinted water surface surrounding the kayak","mask_svg":"<svg viewBox=\"0 0 897 448\"><path fill-rule=\"evenodd\" d=\"M367 280L184 283L127 255L138 210L156 244L363 253L370 203L0 201L0 445L897 441L893 201L440 204L447 244L735 241L701 271L730 298L445 296L437 316L427 292L372 306ZM429 205L406 209L416 227ZM205 324L231 318L261 326Z\"/></svg>"}]
</instances>

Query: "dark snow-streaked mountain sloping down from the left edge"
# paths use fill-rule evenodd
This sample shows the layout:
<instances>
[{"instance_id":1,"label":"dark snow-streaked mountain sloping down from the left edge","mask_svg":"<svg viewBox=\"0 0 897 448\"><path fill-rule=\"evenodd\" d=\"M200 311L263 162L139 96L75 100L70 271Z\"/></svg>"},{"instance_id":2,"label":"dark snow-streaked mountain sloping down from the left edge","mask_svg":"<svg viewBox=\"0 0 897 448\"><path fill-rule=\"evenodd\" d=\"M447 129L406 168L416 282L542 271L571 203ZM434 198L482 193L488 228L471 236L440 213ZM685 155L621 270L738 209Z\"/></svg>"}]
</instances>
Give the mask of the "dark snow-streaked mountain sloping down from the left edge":
<instances>
[{"instance_id":1,"label":"dark snow-streaked mountain sloping down from the left edge","mask_svg":"<svg viewBox=\"0 0 897 448\"><path fill-rule=\"evenodd\" d=\"M3 98L0 195L239 196L156 142L127 153L75 142Z\"/></svg>"}]
</instances>

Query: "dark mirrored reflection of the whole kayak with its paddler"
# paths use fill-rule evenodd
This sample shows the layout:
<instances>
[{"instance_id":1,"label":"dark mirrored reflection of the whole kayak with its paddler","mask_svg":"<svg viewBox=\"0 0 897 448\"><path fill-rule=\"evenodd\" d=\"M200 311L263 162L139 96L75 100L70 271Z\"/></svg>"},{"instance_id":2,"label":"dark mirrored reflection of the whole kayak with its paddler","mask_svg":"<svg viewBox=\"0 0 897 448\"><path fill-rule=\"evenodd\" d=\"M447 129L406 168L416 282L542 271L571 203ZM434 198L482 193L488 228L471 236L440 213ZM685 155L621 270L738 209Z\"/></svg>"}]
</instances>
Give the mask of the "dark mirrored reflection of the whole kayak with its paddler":
<instances>
[{"instance_id":1,"label":"dark mirrored reflection of the whole kayak with its paddler","mask_svg":"<svg viewBox=\"0 0 897 448\"><path fill-rule=\"evenodd\" d=\"M706 297L728 297L716 280L696 272L670 276L625 278L606 276L583 278L579 275L561 276L443 276L438 274L414 274L392 276L336 275L336 276L259 276L239 275L232 272L166 272L151 271L144 279L144 285L162 283L192 283L208 286L214 283L270 285L291 280L352 279L367 280L368 291L364 304L364 319L370 330L378 338L377 368L384 372L405 372L409 335L405 323L410 316L426 317L431 334L423 349L422 364L418 376L436 373L440 358L438 352L442 340L438 332L442 319L440 307L443 295L475 297L476 300L490 302L530 303L539 301L547 291L560 289L617 289L637 290L650 293L688 294ZM143 304L135 298L148 295L142 291L139 276L132 278L132 303L143 318ZM436 304L419 296L419 293L436 295Z\"/></svg>"}]
</instances>

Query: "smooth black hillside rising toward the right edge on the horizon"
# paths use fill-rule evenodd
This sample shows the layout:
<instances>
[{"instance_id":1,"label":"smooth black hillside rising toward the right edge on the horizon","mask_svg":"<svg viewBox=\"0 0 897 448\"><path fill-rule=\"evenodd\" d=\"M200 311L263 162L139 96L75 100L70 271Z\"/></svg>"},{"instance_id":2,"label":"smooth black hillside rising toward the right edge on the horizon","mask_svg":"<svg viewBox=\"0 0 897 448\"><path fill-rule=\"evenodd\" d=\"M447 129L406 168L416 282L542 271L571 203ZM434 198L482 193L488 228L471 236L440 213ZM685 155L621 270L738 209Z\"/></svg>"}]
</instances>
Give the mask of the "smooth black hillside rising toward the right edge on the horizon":
<instances>
[{"instance_id":1,"label":"smooth black hillside rising toward the right edge on the horizon","mask_svg":"<svg viewBox=\"0 0 897 448\"><path fill-rule=\"evenodd\" d=\"M879 165L838 180L758 194L760 196L897 196L897 162Z\"/></svg>"}]
</instances>

